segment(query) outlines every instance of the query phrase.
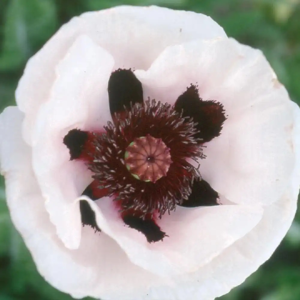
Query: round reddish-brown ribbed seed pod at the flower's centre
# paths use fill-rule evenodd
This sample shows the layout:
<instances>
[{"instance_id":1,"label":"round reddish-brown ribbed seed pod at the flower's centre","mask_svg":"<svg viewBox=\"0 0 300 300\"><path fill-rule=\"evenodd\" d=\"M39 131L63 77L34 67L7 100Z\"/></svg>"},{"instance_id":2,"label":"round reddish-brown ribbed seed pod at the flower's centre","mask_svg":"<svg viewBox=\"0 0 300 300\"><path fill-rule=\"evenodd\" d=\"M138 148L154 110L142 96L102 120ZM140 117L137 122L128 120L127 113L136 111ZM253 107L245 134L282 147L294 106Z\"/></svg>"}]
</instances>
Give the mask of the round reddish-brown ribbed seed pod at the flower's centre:
<instances>
[{"instance_id":1,"label":"round reddish-brown ribbed seed pod at the flower's centre","mask_svg":"<svg viewBox=\"0 0 300 300\"><path fill-rule=\"evenodd\" d=\"M166 176L170 168L170 148L162 139L147 134L146 137L138 137L129 144L125 152L125 163L135 178L156 182Z\"/></svg>"}]
</instances>

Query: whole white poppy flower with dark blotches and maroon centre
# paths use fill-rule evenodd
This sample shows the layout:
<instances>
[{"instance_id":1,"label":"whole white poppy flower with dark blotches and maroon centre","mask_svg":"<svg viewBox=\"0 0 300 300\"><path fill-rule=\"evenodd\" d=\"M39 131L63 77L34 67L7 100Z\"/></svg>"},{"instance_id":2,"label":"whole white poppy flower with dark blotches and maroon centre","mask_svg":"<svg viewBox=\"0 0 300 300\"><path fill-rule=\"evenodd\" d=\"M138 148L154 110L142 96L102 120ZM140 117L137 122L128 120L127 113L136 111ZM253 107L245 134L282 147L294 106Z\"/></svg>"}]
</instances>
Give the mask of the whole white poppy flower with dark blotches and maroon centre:
<instances>
[{"instance_id":1,"label":"whole white poppy flower with dark blotches and maroon centre","mask_svg":"<svg viewBox=\"0 0 300 300\"><path fill-rule=\"evenodd\" d=\"M0 116L11 217L75 298L214 299L292 223L300 110L260 51L205 15L73 18L29 60L16 102Z\"/></svg>"}]
</instances>

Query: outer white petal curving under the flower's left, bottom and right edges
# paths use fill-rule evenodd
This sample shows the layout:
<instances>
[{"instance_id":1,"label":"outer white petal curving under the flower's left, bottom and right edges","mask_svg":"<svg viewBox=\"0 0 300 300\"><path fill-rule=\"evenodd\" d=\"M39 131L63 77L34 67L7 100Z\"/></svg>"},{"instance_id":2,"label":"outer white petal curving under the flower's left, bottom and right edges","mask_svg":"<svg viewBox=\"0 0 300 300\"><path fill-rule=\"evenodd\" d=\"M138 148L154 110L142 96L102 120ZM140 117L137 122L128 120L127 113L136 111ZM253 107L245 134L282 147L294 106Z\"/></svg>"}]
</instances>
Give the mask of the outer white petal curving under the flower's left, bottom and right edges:
<instances>
[{"instance_id":1,"label":"outer white petal curving under the flower's left, bottom and right edges","mask_svg":"<svg viewBox=\"0 0 300 300\"><path fill-rule=\"evenodd\" d=\"M228 292L268 259L294 217L300 180L300 113L298 106L293 106L295 126L291 130L297 163L288 192L265 208L262 220L244 238L198 271L173 278L173 283L130 264L124 252L103 232L95 235L84 228L79 249L64 248L55 237L30 167L29 148L22 142L22 114L17 108L7 108L0 117L0 157L6 175L7 202L38 270L56 288L78 298L90 295L112 300L212 300Z\"/></svg>"}]
</instances>

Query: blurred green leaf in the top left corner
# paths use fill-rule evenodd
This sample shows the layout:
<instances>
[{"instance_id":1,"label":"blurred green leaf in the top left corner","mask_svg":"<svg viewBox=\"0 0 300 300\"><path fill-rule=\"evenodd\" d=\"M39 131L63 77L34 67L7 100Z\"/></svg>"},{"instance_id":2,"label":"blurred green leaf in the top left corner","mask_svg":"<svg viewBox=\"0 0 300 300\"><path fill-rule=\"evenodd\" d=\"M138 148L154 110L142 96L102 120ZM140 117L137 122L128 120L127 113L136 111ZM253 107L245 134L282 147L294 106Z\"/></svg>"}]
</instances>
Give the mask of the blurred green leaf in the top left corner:
<instances>
[{"instance_id":1,"label":"blurred green leaf in the top left corner","mask_svg":"<svg viewBox=\"0 0 300 300\"><path fill-rule=\"evenodd\" d=\"M7 7L0 70L22 67L57 28L52 0L12 0Z\"/></svg>"}]
</instances>

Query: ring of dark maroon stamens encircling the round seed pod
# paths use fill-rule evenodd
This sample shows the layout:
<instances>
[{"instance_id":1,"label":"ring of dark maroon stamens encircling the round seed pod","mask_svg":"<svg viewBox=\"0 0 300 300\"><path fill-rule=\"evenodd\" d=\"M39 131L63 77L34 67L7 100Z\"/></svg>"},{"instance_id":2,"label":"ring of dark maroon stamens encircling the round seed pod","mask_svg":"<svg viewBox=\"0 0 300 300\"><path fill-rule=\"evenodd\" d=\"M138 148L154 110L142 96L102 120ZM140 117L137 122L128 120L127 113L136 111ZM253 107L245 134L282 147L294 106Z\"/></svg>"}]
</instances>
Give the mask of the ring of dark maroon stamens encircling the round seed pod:
<instances>
[{"instance_id":1,"label":"ring of dark maroon stamens encircling the round seed pod","mask_svg":"<svg viewBox=\"0 0 300 300\"><path fill-rule=\"evenodd\" d=\"M170 104L155 100L134 104L122 114L115 114L113 119L114 123L108 122L104 127L105 133L93 134L90 146L88 168L94 173L99 188L108 190L107 195L114 197L120 211L135 211L143 217L154 212L161 217L186 201L193 180L200 176L199 170L187 159L204 158L200 141L195 138L197 129L193 120L182 117ZM148 179L141 170L136 173L139 175L128 171L129 145L146 142L143 138L148 134L153 138L150 144L161 139L158 148L167 149L164 153L166 176L155 173ZM147 164L153 161L146 153L142 154Z\"/></svg>"}]
</instances>

